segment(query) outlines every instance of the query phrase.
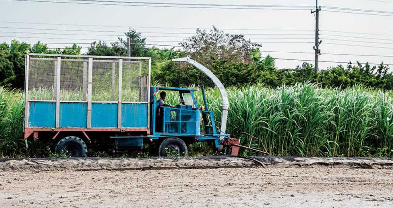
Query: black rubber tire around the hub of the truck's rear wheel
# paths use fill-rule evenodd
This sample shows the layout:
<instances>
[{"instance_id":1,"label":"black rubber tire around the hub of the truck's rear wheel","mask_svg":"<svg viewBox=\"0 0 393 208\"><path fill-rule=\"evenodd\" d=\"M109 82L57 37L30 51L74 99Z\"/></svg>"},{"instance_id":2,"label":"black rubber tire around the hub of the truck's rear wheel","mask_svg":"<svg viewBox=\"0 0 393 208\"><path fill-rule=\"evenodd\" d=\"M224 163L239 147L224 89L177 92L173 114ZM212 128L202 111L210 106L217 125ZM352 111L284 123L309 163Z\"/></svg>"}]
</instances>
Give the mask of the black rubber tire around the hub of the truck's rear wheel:
<instances>
[{"instance_id":1,"label":"black rubber tire around the hub of the truck's rear wheel","mask_svg":"<svg viewBox=\"0 0 393 208\"><path fill-rule=\"evenodd\" d=\"M70 144L78 148L78 152L76 153L76 155L71 155L71 157L87 157L86 143L84 143L84 141L81 138L75 136L65 137L62 140L60 140L55 148L56 153L63 154L65 148Z\"/></svg>"}]
</instances>

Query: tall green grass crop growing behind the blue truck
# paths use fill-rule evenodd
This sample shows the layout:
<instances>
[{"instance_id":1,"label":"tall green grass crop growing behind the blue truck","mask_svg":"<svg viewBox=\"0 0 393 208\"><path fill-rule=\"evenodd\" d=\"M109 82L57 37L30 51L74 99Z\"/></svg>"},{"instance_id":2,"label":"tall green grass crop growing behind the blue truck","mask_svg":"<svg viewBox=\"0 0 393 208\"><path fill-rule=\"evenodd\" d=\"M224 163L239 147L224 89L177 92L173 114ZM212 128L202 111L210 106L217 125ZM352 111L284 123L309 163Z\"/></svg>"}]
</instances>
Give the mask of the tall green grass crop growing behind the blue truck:
<instances>
[{"instance_id":1,"label":"tall green grass crop growing behind the blue truck","mask_svg":"<svg viewBox=\"0 0 393 208\"><path fill-rule=\"evenodd\" d=\"M250 138L240 133L248 132L261 138L275 156L393 156L391 92L360 86L342 90L256 84L228 87L227 93L227 133L242 139L242 144L248 145ZM209 88L206 94L219 120L220 93ZM201 93L196 95L202 102ZM168 94L167 99L179 103L176 95ZM0 88L0 156L25 153L22 131L22 93ZM254 139L252 147L262 148L262 143Z\"/></svg>"}]
</instances>

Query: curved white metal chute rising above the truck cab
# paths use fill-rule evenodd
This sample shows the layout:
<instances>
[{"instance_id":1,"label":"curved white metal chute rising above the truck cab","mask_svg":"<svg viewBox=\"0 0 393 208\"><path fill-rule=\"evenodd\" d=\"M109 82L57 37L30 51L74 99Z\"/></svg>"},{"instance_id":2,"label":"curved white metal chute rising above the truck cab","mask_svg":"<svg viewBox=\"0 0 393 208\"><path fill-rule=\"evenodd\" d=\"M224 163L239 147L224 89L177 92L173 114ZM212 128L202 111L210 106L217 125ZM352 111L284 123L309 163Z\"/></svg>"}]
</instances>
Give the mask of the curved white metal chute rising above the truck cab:
<instances>
[{"instance_id":1,"label":"curved white metal chute rising above the truck cab","mask_svg":"<svg viewBox=\"0 0 393 208\"><path fill-rule=\"evenodd\" d=\"M175 62L187 62L192 64L193 66L195 66L197 69L199 69L200 71L202 71L204 74L206 74L206 76L208 76L213 83L218 87L218 89L220 90L221 93L221 98L222 98L222 105L221 105L221 109L222 109L222 113L221 113L221 134L225 134L225 130L227 128L227 117L228 117L228 96L227 96L227 92L225 91L224 85L221 83L221 81L213 74L212 71L210 71L209 69L207 69L206 67L204 67L203 65L199 64L197 61L191 59L191 58L175 58L172 59L172 61ZM223 138L223 137L221 137Z\"/></svg>"}]
</instances>

